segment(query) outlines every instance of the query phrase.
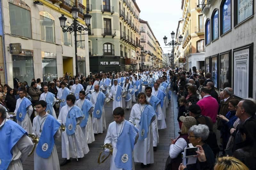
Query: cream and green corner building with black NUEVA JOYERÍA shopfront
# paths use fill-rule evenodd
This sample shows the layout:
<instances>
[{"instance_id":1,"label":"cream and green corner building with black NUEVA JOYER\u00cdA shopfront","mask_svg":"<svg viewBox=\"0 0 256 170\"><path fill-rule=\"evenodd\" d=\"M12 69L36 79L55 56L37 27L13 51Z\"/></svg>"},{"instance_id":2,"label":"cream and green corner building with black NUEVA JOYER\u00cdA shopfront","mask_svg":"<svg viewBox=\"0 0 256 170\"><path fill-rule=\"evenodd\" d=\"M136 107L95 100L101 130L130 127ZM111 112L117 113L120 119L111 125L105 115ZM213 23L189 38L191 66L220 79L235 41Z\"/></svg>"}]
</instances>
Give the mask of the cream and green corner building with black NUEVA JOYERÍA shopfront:
<instances>
[{"instance_id":1,"label":"cream and green corner building with black NUEVA JOYER\u00cdA shopfront","mask_svg":"<svg viewBox=\"0 0 256 170\"><path fill-rule=\"evenodd\" d=\"M87 0L92 7L90 71L138 69L140 9L134 0Z\"/></svg>"}]
</instances>

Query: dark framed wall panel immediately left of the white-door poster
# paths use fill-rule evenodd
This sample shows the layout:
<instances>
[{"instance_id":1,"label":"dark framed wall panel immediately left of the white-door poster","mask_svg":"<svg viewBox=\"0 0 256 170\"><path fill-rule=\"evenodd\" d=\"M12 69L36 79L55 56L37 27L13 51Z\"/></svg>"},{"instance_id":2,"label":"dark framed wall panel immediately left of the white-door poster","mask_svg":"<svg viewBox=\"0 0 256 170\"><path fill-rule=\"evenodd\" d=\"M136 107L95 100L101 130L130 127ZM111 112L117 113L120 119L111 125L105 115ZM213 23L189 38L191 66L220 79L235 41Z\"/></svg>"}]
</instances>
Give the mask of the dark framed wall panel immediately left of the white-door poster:
<instances>
[{"instance_id":1,"label":"dark framed wall panel immediately left of the white-door poster","mask_svg":"<svg viewBox=\"0 0 256 170\"><path fill-rule=\"evenodd\" d=\"M229 84L231 80L231 75L229 74L231 68L229 66L229 55L229 53L220 55L220 89L222 90L224 89L224 83Z\"/></svg>"}]
</instances>

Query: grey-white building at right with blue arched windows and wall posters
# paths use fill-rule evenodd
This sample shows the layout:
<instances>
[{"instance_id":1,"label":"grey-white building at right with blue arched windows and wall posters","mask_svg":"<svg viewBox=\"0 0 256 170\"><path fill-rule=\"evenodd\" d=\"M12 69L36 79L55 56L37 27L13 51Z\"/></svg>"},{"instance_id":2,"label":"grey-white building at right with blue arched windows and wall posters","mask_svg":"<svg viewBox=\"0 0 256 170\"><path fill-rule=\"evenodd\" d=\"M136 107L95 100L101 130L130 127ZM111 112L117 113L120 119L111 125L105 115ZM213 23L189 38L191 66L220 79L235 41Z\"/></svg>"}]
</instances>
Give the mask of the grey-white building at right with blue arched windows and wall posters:
<instances>
[{"instance_id":1,"label":"grey-white building at right with blue arched windows and wall posters","mask_svg":"<svg viewBox=\"0 0 256 170\"><path fill-rule=\"evenodd\" d=\"M238 98L255 99L255 0L209 1L202 6L205 22L205 73L216 89L228 85Z\"/></svg>"}]
</instances>

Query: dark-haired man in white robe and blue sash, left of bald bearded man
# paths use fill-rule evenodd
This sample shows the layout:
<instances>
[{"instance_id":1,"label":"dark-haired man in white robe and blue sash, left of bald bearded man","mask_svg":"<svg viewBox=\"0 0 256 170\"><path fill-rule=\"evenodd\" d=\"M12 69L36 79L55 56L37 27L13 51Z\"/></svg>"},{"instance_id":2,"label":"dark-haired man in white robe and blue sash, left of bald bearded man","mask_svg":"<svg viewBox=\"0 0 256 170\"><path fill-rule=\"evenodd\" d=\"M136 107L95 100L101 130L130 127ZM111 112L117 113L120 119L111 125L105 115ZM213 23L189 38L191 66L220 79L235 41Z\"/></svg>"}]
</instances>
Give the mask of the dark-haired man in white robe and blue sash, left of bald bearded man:
<instances>
[{"instance_id":1,"label":"dark-haired man in white robe and blue sash, left of bald bearded man","mask_svg":"<svg viewBox=\"0 0 256 170\"><path fill-rule=\"evenodd\" d=\"M90 100L85 99L85 92L80 91L79 92L79 100L76 101L75 105L78 106L82 110L84 102L87 102L87 103L89 103L88 105L92 106L92 103L90 102ZM80 123L80 126L81 126L81 129L82 129L83 133L84 133L87 144L90 144L90 143L95 141L93 128L92 128L92 118L91 118L92 117L92 112L93 112L93 107L86 108L86 110L89 110L88 113L86 113L86 114L89 114L89 115L86 115L86 116L88 116L87 124L84 127L82 127L81 123ZM84 115L85 115L86 110L82 110ZM84 117L83 117L83 119L84 119Z\"/></svg>"}]
</instances>

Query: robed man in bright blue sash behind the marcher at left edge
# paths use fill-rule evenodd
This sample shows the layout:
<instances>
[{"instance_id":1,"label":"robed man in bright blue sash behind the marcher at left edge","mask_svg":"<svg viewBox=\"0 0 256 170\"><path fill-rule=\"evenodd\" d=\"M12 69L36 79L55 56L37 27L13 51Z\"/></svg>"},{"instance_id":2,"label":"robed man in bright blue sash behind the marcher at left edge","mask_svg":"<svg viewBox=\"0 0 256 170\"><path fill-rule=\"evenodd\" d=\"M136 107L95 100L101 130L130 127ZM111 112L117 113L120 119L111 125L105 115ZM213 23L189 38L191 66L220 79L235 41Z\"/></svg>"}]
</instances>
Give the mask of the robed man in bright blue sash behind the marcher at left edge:
<instances>
[{"instance_id":1,"label":"robed man in bright blue sash behind the marcher at left edge","mask_svg":"<svg viewBox=\"0 0 256 170\"><path fill-rule=\"evenodd\" d=\"M17 100L14 110L15 115L17 115L17 124L31 134L33 132L32 123L30 121L30 116L33 113L32 103L25 97L25 90L20 89L19 95L20 98Z\"/></svg>"}]
</instances>

